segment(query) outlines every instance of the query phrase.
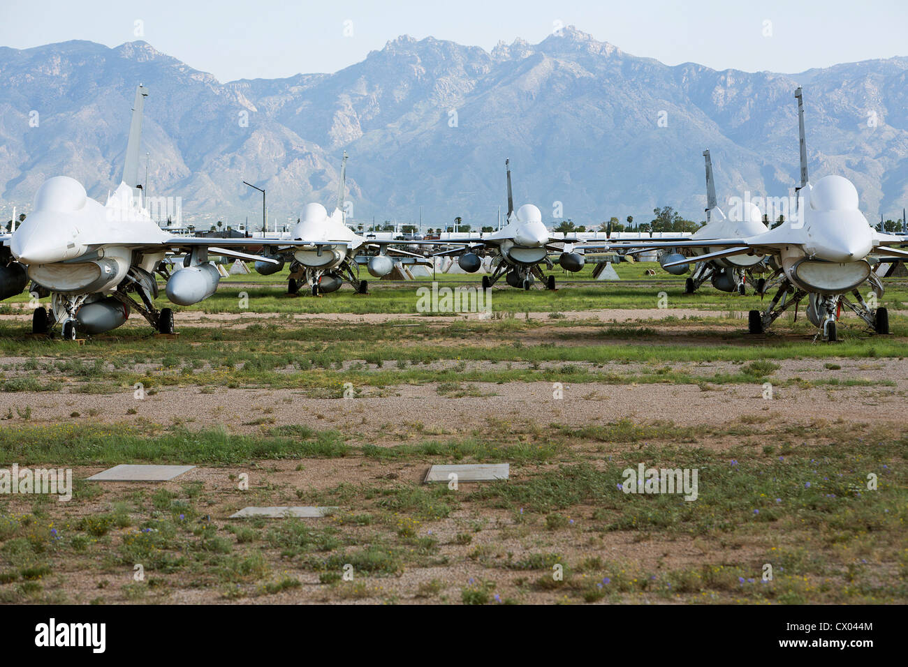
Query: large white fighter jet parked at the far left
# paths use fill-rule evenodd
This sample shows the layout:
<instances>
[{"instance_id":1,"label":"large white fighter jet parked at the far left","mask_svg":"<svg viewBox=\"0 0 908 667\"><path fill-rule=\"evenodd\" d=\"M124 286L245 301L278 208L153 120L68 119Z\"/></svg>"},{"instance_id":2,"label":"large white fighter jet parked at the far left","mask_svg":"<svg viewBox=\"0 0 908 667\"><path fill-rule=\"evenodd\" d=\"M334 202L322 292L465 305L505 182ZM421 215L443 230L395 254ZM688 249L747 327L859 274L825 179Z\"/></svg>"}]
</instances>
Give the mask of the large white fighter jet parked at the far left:
<instances>
[{"instance_id":1,"label":"large white fighter jet parked at the far left","mask_svg":"<svg viewBox=\"0 0 908 667\"><path fill-rule=\"evenodd\" d=\"M79 181L54 176L38 188L34 210L5 241L15 262L7 264L0 275L18 272L18 268L11 269L18 264L32 282L31 292L51 296L50 313L44 307L35 309L35 333L50 333L54 322L61 325L64 338L74 339L77 332L102 333L122 325L133 310L157 331L173 333L173 310L157 309L153 303L158 295L156 273L167 279L167 298L188 306L207 299L217 289L220 274L208 261L209 254L277 263L224 247L260 247L262 240L173 236L152 220L143 208L138 184L147 94L140 84L123 181L107 202L90 199ZM163 262L171 253L186 254L183 267L173 274Z\"/></svg>"}]
</instances>

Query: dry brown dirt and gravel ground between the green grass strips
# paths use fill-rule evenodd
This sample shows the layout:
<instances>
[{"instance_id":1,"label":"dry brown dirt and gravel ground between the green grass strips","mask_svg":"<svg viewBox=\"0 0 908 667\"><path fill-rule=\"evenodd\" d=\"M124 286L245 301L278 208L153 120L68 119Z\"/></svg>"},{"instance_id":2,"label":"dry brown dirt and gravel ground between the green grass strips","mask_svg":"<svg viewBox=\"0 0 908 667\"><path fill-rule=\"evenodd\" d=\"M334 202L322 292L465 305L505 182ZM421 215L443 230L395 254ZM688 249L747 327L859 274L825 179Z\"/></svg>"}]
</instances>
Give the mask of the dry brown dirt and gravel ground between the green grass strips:
<instances>
[{"instance_id":1,"label":"dry brown dirt and gravel ground between the green grass strips","mask_svg":"<svg viewBox=\"0 0 908 667\"><path fill-rule=\"evenodd\" d=\"M578 321L621 322L660 319L665 315L665 311L653 309L582 311L571 313L570 317ZM672 310L670 315L708 318L715 317L716 312ZM4 319L15 317L4 316ZM530 317L546 320L547 314L531 313ZM186 330L191 332L193 323L222 322L227 326L242 327L267 321L270 317L267 314L184 313L181 319ZM334 321L342 326L345 322L380 323L412 318L297 315L292 321L309 319ZM280 321L287 319L282 317ZM570 329L558 330L563 333ZM533 336L540 340L545 338L544 332L539 331L534 331ZM691 340L691 344L704 342L703 338ZM0 358L0 366L15 367L21 360ZM41 358L37 360L41 361ZM449 366L449 360L436 363L438 368ZM137 400L131 390L109 394L70 393L76 385L71 381L64 381L63 387L54 392L0 392L0 414L10 417L0 421L0 429L35 427L35 433L41 433L42 427L59 424L68 425L74 431L104 425L114 428L122 425L124 430L158 425L155 432L169 427L189 431L223 428L232 434L265 436L273 428L303 426L316 432L337 432L353 447L350 454L344 456L200 465L163 484L90 485L93 491L77 497L72 503L48 502L46 499L36 502L27 496L9 496L0 501L3 503L0 519L4 515L13 517L18 527L11 529L6 544L25 538L32 544L34 553L23 555L12 549L0 551L0 595L3 595L0 601L449 603L485 602L488 598L489 602L518 603L686 603L739 599L754 602L763 598L742 593L736 587L737 575L743 574L743 580L748 577L759 580L760 565L765 562L767 553L776 550L795 553L804 546L815 547L818 553L836 555L829 555L830 564L816 566L814 571L808 572L804 578L807 584L797 584L797 588L795 584L788 584L785 594L790 593L793 597L782 601L829 600L829 593L824 593L826 597L812 597L814 589L811 587L815 590L847 587L847 578L840 572L840 565L844 567L848 559L859 558L866 563L869 558L876 566L874 582L892 575L898 567L893 560L892 545L887 543L879 549L871 547L862 552L856 545L843 543L834 551L829 543L817 541L817 535L824 534L824 526L814 526L814 532L805 528L807 532L804 532L793 529L790 523L780 523L774 529L741 525L734 531L701 533L678 529L645 533L606 529L604 526L614 517L607 512L603 515L601 507L588 498L569 503L566 509L558 512L536 511L524 515L522 507L516 510L514 506L496 506L494 502L471 495L481 485L463 485L454 492L459 494L458 500L451 502L447 515L432 515L419 505L431 505L434 501L429 496L421 498L419 503L412 501L414 507L419 505L419 510L407 509L406 504L401 505L403 509L394 509L394 505L380 502L383 492L404 489L407 493L429 493L423 491L422 478L430 463L452 461L438 456L365 456L359 449L366 445L394 449L427 441L448 443L487 438L518 444L540 443L542 446L541 443L548 439L561 437L556 436L557 433L563 435L565 431L576 432L586 427L607 427L620 420L638 425L663 425L656 429L655 435L627 441L598 442L594 437L575 435L569 436L568 440L558 440L559 445L564 445L558 453L548 458L524 458L512 463L511 479L507 484L519 485L557 471L562 464L587 464L603 469L612 457L629 460L648 445L671 447L685 443L723 460L741 456L742 452L756 460L762 456L761 451L766 451L765 447L772 450L780 446L782 440L786 441L785 446L787 441L794 440L795 444L821 447L840 439L843 429L868 438L881 430L896 436L903 433L908 360L844 358L835 359L833 368L830 368L829 359L781 359L776 363L779 368L770 377L755 378L750 384L572 383L567 376L560 387L563 391L560 399L554 397L555 387L549 382L475 382L469 383L465 396L457 396L456 392L452 395L438 382L364 387L358 397L349 400L311 397L301 389L216 387L212 391L192 385L163 387L157 393ZM582 363L578 366L583 368ZM725 361L677 362L661 366L704 377L735 373L740 368ZM469 362L464 368L493 367L488 362L476 361ZM501 368L501 365L494 368ZM515 364L514 368L520 366ZM647 370L651 368L646 364L617 362L597 369L618 376ZM339 370L339 374L341 372ZM13 368L5 377L25 374L25 371ZM839 379L841 384L817 384L817 381L831 378ZM864 384L848 386L849 380ZM771 398L765 396L766 382L772 385ZM30 408L28 417L22 417L18 412L24 406ZM806 429L803 436L799 431L802 427ZM672 434L673 428L677 429L677 437ZM746 430L745 436L741 435L742 429ZM27 448L25 457L27 459ZM775 454L766 456L767 461L770 458L775 458ZM806 460L810 460L809 456ZM27 466L29 462L19 461L19 465ZM59 465L68 466L65 461ZM763 459L760 459L760 465L764 465ZM107 466L72 467L74 476L84 479ZM241 488L243 475L249 477L248 490ZM162 489L169 493L162 494ZM228 518L245 505L314 505L321 502L337 504L341 506L341 512L301 522L287 519L246 522ZM191 507L192 512L187 511L185 518L177 518L183 514L173 508L183 506L182 503ZM417 518L419 512L428 512L428 515ZM85 533L86 517L108 515L125 518L118 519L120 523L103 533L98 531L98 535L88 530L93 541L87 550L71 549L69 542L59 547L59 551L41 546L44 544L42 535L46 536L48 531L59 529L64 540L69 539L76 533ZM372 518L370 521L355 518L362 515ZM556 518L550 519L552 515ZM196 544L199 541L193 542L193 537L202 535L201 544L215 544L210 548L212 554L217 555L211 555L210 561L206 561L208 554L193 556L190 565L174 572L150 567L143 581L135 581L134 565L124 557L110 556L122 554L126 540L149 525L157 525L154 522L167 522L170 527L175 525L177 535L185 535L185 544ZM187 525L181 522L187 522ZM292 544L287 535L275 535L274 531L281 530L276 526L281 524L303 526L302 533L311 532L306 538L308 542L304 539L306 544ZM250 535L241 539L240 531L236 530L238 525L250 528ZM159 530L156 527L147 529ZM163 534L164 528L160 530ZM222 542L206 543L206 535L209 535L206 531L209 530L212 535L220 536ZM362 573L354 568L352 581L337 581L335 575L340 571L332 569L334 565L325 568L313 565L312 559L328 563L331 552L336 551L328 549L321 553L313 546L319 543L318 535L326 531L341 535L341 543L348 548L345 553L350 549L366 548L369 544L388 545L390 551L398 554L401 565L391 574ZM0 521L0 537L4 536ZM898 535L891 535L891 538L896 542L901 539ZM199 548L204 551L209 547ZM843 552L847 553L843 555ZM256 553L264 556L264 564L252 567L252 572L244 570L242 563L223 561L233 555L240 558L240 554ZM546 583L556 581L551 576L552 564L548 562L548 556L542 557L546 554L557 554L556 564L571 568L571 588ZM511 565L521 559L532 560L534 556L540 556L541 560L531 567ZM35 563L49 564L49 571L34 577L15 575L25 573ZM209 572L222 572L225 568L229 572L222 576L212 576ZM707 570L714 574L707 574ZM695 572L700 574L678 574ZM729 573L734 573L735 576L725 581L723 573L729 577ZM686 576L712 578L700 587L677 585L686 581ZM650 577L662 587L657 588L656 584L647 587L646 581ZM621 588L616 593L600 596L596 583L606 579L620 582ZM35 583L36 586L28 585ZM676 584L676 590L671 588L672 583ZM867 590L876 590L867 585L870 586ZM593 593L588 593L590 590ZM864 591L860 594L864 595L861 600L865 601L866 596L875 593Z\"/></svg>"}]
</instances>

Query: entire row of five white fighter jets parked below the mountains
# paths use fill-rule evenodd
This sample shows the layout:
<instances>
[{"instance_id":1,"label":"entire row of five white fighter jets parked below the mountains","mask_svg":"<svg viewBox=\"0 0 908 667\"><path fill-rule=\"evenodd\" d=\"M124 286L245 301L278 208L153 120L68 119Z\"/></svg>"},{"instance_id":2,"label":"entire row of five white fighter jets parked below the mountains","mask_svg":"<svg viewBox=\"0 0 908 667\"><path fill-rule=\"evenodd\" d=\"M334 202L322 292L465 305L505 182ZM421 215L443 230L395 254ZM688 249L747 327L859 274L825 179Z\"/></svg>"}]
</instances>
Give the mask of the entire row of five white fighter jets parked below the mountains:
<instances>
[{"instance_id":1,"label":"entire row of five white fighter jets parked below the mountains","mask_svg":"<svg viewBox=\"0 0 908 667\"><path fill-rule=\"evenodd\" d=\"M404 242L363 237L345 224L344 191L347 155L341 163L338 201L331 215L321 203L307 204L288 238L212 239L176 236L162 230L143 207L138 185L144 98L136 90L123 181L102 205L88 198L84 186L72 178L57 176L45 181L35 193L34 211L11 234L0 237L0 299L21 293L29 281L30 291L51 296L51 309L35 309L33 330L47 333L59 324L64 338L77 332L97 334L123 324L130 313L140 313L154 329L173 332L173 310L157 309L155 276L166 280L167 298L178 305L207 299L217 289L220 274L209 256L254 260L260 273L269 275L289 263L288 289L304 284L313 295L340 289L348 282L366 292L368 281L360 280L358 255L366 254L370 275L380 278L393 270L393 256L424 257L400 247ZM713 166L706 158L706 225L687 238L662 240L582 241L560 238L548 231L538 207L526 203L514 207L511 172L506 161L508 215L500 230L447 240L409 240L408 245L429 249L443 246L438 255L458 257L468 272L479 270L481 255L491 255L491 275L483 276L489 289L502 277L515 288L530 289L535 279L555 289L555 277L543 268L554 268L553 259L569 271L581 270L584 252L611 250L636 253L657 250L660 264L683 275L691 263L696 269L686 280L692 292L710 280L716 289L745 292L747 282L763 294L769 285L777 289L765 312L750 313L749 330L762 333L786 309L808 298L807 314L824 338L836 338L835 323L844 305L874 331L888 332L888 315L872 308L860 289L869 285L882 296L883 285L871 270L873 253L908 259L900 246L906 237L873 230L858 209L858 195L851 181L825 176L816 185L807 179L804 139L804 103L797 89L800 133L801 185L796 191L798 215L773 230L761 221L757 207L747 202L728 217L716 201ZM735 218L739 218L736 220ZM578 251L579 250L579 251ZM687 254L685 254L687 253ZM183 266L171 271L165 261L184 255ZM769 280L755 274L771 271ZM846 295L854 297L854 302Z\"/></svg>"}]
</instances>

